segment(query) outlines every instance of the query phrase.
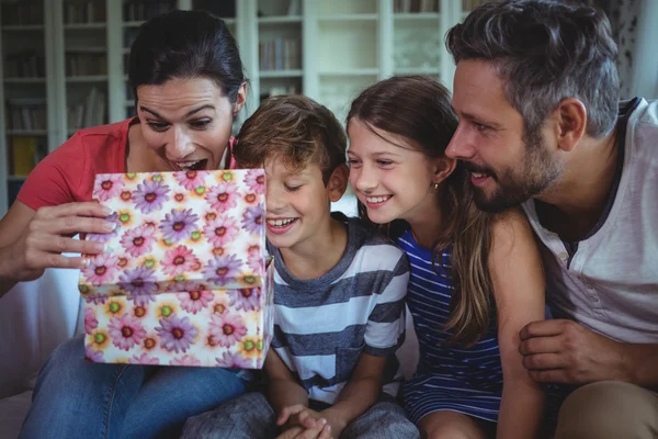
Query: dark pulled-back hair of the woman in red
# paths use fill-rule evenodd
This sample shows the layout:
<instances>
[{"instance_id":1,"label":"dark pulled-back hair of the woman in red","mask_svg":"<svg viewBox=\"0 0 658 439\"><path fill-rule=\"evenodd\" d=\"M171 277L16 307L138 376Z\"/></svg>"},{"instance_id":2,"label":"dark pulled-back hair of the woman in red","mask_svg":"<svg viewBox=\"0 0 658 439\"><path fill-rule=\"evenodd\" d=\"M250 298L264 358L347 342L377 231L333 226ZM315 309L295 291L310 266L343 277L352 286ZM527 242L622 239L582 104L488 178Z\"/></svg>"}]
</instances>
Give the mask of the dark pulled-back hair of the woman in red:
<instances>
[{"instance_id":1,"label":"dark pulled-back hair of the woman in red","mask_svg":"<svg viewBox=\"0 0 658 439\"><path fill-rule=\"evenodd\" d=\"M135 97L139 86L195 77L214 80L236 102L245 74L238 45L222 19L205 11L173 10L139 27L128 60Z\"/></svg>"}]
</instances>

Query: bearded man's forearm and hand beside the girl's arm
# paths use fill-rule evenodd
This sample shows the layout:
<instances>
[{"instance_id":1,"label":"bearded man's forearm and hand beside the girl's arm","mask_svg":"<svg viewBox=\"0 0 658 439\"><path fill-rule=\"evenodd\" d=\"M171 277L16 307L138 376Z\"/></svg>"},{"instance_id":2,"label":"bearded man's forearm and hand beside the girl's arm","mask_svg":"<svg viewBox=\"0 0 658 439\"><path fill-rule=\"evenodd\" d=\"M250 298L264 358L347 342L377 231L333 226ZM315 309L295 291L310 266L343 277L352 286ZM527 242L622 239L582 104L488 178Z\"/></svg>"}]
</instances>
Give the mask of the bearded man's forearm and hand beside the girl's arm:
<instances>
[{"instance_id":1,"label":"bearded man's forearm and hand beside the girl's arm","mask_svg":"<svg viewBox=\"0 0 658 439\"><path fill-rule=\"evenodd\" d=\"M623 381L658 389L658 345L619 342L565 319L533 322L521 340L523 365L537 382Z\"/></svg>"}]
</instances>

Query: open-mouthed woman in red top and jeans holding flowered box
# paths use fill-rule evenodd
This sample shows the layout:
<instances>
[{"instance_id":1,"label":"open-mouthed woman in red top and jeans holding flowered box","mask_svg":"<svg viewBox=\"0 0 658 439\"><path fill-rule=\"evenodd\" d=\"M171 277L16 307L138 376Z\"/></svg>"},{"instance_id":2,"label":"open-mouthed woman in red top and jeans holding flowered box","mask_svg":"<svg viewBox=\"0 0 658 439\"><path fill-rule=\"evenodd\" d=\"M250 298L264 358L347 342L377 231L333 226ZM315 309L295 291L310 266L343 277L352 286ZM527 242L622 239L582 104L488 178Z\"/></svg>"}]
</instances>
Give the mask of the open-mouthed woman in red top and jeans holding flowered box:
<instances>
[{"instance_id":1,"label":"open-mouthed woman in red top and jeans holding flowered box","mask_svg":"<svg viewBox=\"0 0 658 439\"><path fill-rule=\"evenodd\" d=\"M102 250L71 238L113 228L91 201L97 173L230 162L231 124L245 104L246 79L222 20L172 11L145 23L131 49L128 78L137 117L72 136L32 171L0 222L0 294L46 268L82 266L63 252ZM245 386L239 372L225 369L91 364L78 337L44 363L21 437L163 437Z\"/></svg>"}]
</instances>

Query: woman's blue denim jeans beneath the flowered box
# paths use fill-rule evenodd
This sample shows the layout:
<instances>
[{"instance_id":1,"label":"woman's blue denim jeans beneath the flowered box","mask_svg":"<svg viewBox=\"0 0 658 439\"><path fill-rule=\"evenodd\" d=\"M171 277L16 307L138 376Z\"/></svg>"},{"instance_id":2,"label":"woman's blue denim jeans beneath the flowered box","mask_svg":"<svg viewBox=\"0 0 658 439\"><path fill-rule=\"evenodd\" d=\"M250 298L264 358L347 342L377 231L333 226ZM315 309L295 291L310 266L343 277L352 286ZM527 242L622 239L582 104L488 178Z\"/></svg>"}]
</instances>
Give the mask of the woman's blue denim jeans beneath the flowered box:
<instances>
[{"instance_id":1,"label":"woman's blue denim jeans beneath the flowered box","mask_svg":"<svg viewBox=\"0 0 658 439\"><path fill-rule=\"evenodd\" d=\"M20 438L178 437L246 389L229 369L90 363L77 337L44 362Z\"/></svg>"}]
</instances>

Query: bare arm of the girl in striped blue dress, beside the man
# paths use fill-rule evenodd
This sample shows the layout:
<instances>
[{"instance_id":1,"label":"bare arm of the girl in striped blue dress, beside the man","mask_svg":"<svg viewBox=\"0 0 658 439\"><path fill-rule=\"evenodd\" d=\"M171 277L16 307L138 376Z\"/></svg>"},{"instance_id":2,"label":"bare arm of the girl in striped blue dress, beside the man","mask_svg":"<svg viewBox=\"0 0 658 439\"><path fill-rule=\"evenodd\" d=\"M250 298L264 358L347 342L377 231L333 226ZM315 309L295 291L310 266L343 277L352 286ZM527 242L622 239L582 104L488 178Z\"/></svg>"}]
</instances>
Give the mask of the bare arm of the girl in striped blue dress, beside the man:
<instances>
[{"instance_id":1,"label":"bare arm of the girl in striped blue dress, beside the man","mask_svg":"<svg viewBox=\"0 0 658 439\"><path fill-rule=\"evenodd\" d=\"M544 414L544 391L523 367L519 333L529 323L544 319L546 284L534 235L521 212L507 212L495 222L489 271L503 375L497 437L535 438Z\"/></svg>"}]
</instances>

